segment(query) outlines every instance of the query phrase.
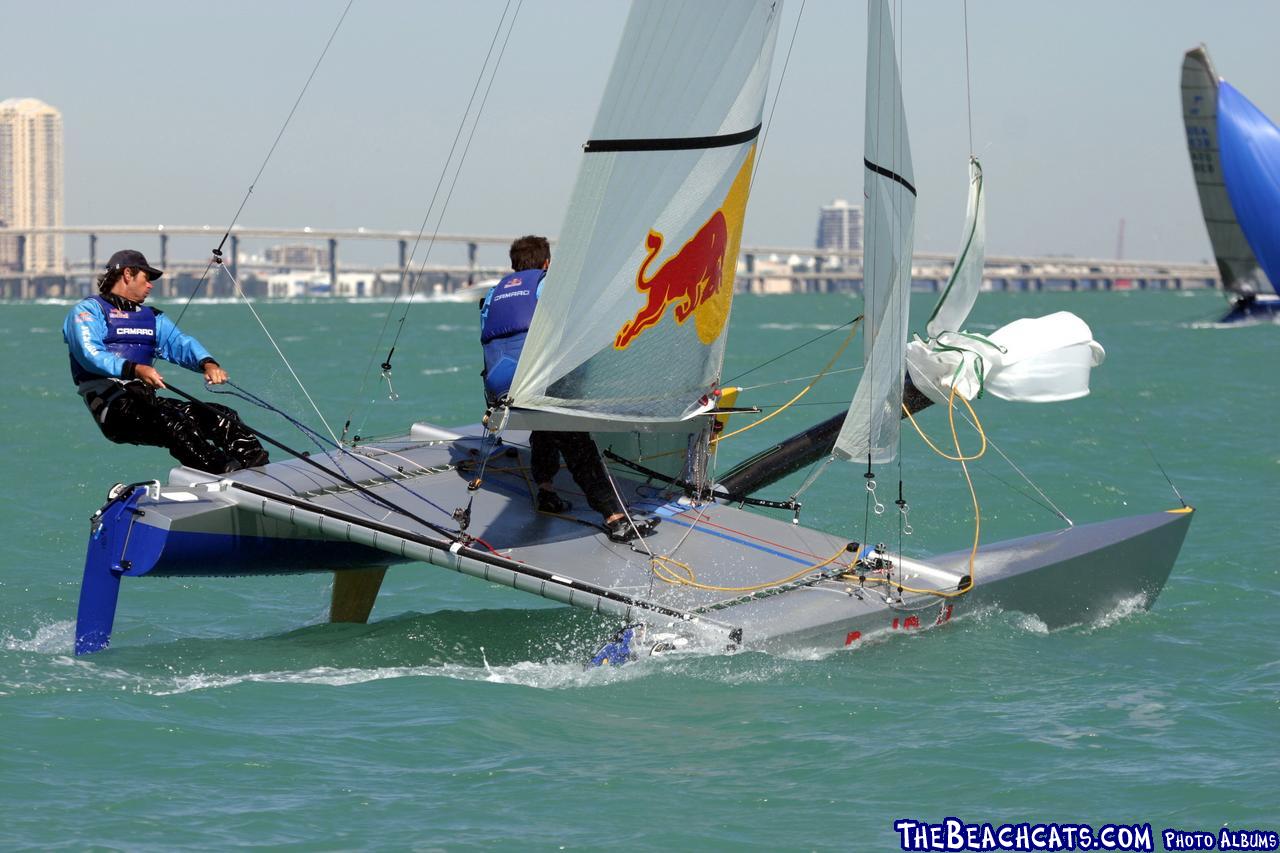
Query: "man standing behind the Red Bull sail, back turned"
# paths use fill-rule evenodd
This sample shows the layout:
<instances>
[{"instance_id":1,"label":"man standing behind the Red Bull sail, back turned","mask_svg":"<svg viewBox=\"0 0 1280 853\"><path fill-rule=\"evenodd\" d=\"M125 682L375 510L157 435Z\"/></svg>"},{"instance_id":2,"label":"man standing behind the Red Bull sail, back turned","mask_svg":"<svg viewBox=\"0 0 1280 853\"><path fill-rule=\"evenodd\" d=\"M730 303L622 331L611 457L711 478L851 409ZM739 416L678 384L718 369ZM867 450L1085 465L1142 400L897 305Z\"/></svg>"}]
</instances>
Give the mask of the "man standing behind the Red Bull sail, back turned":
<instances>
[{"instance_id":1,"label":"man standing behind the Red Bull sail, back turned","mask_svg":"<svg viewBox=\"0 0 1280 853\"><path fill-rule=\"evenodd\" d=\"M498 282L480 304L480 343L484 347L484 371L480 375L489 406L498 403L516 378L516 365L550 263L550 243L545 237L530 234L518 238L511 245L511 269L515 272ZM637 535L636 525L622 512L600 461L600 451L590 435L534 430L529 433L529 451L540 512L559 514L572 507L556 493L552 483L563 456L564 466L582 489L586 502L604 519L609 538L630 542Z\"/></svg>"}]
</instances>

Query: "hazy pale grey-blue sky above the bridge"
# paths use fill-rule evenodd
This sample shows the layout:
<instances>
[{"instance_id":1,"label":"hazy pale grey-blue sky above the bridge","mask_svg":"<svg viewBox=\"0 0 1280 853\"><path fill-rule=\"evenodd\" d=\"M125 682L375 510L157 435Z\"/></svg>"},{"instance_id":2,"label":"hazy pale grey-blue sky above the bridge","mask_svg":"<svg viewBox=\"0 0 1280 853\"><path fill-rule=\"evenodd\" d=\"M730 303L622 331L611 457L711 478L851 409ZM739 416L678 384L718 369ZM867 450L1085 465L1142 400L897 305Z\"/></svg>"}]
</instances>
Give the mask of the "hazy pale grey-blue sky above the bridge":
<instances>
[{"instance_id":1,"label":"hazy pale grey-blue sky above the bridge","mask_svg":"<svg viewBox=\"0 0 1280 853\"><path fill-rule=\"evenodd\" d=\"M0 0L0 99L61 110L68 224L221 229L344 6ZM503 6L356 0L241 224L416 231ZM774 86L800 26L749 246L810 246L819 205L861 197L865 8L800 12L787 0ZM625 17L622 3L525 0L443 232L559 232ZM902 18L916 247L954 251L969 154L964 4L906 0ZM1219 73L1280 118L1276 32L1274 0L969 0L988 251L1114 257L1123 218L1125 257L1207 259L1181 56L1206 42ZM87 254L78 241L68 251Z\"/></svg>"}]
</instances>

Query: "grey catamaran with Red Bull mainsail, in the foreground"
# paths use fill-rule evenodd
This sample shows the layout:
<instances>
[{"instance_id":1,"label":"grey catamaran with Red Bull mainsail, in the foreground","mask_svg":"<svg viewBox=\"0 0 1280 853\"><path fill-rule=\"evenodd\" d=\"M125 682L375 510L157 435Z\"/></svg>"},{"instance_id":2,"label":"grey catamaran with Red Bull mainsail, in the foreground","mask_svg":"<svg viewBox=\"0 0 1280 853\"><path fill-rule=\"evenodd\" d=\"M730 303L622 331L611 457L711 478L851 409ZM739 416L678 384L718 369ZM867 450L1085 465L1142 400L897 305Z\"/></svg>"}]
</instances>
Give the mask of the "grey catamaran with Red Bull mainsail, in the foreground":
<instances>
[{"instance_id":1,"label":"grey catamaran with Red Bull mainsail, in the foreground","mask_svg":"<svg viewBox=\"0 0 1280 853\"><path fill-rule=\"evenodd\" d=\"M471 426L416 423L260 469L177 467L166 483L114 488L92 521L76 652L110 642L124 578L334 573L330 619L365 621L385 567L413 561L618 620L595 662L687 646L856 647L987 605L1059 626L1153 601L1185 505L1000 543L975 532L928 558L881 544L910 532L906 502L887 508L876 491L904 416L941 403L955 419L983 388L1078 397L1102 359L1070 315L963 330L982 278L977 161L956 273L927 338L909 345L915 186L884 0L868 4L865 309L851 324L863 375L840 423L805 442L799 456L820 464L788 500L756 494L796 453L714 476L726 415L741 411L721 368L778 18L772 0L636 4L508 397ZM591 430L645 535L618 543L585 515L535 511L531 429ZM960 465L977 455L956 444ZM867 528L795 523L819 475L846 478ZM572 488L563 473L557 488Z\"/></svg>"}]
</instances>

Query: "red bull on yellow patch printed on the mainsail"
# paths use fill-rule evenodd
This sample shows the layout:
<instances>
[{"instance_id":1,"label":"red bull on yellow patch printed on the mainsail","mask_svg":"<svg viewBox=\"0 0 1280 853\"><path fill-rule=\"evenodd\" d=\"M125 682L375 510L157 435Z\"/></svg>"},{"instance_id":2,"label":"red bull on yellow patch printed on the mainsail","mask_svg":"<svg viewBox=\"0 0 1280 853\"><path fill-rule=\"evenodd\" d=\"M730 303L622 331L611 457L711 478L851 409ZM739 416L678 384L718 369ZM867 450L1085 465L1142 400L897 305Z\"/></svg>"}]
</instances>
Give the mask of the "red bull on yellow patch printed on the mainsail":
<instances>
[{"instance_id":1,"label":"red bull on yellow patch printed on the mainsail","mask_svg":"<svg viewBox=\"0 0 1280 853\"><path fill-rule=\"evenodd\" d=\"M649 232L645 240L648 254L636 270L636 291L645 297L645 302L618 329L613 338L614 348L626 350L645 329L658 325L668 307L673 309L680 325L694 318L698 339L704 345L709 346L721 336L733 298L735 264L754 158L755 146L748 151L719 209L652 275L649 268L666 241L659 232Z\"/></svg>"}]
</instances>

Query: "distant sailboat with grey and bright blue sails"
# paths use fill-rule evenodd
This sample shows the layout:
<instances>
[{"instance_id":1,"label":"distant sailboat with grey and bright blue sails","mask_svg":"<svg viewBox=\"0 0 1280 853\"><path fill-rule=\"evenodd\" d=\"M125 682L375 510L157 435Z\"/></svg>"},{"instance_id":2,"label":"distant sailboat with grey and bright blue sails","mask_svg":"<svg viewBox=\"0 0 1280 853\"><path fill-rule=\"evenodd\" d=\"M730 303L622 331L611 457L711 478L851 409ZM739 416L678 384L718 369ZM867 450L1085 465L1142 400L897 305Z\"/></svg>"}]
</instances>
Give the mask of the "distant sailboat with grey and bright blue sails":
<instances>
[{"instance_id":1,"label":"distant sailboat with grey and bright blue sails","mask_svg":"<svg viewBox=\"0 0 1280 853\"><path fill-rule=\"evenodd\" d=\"M1213 260L1222 323L1280 316L1280 128L1217 76L1208 49L1183 56L1183 124Z\"/></svg>"}]
</instances>

